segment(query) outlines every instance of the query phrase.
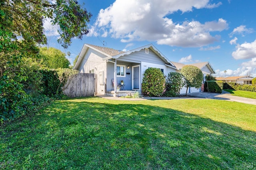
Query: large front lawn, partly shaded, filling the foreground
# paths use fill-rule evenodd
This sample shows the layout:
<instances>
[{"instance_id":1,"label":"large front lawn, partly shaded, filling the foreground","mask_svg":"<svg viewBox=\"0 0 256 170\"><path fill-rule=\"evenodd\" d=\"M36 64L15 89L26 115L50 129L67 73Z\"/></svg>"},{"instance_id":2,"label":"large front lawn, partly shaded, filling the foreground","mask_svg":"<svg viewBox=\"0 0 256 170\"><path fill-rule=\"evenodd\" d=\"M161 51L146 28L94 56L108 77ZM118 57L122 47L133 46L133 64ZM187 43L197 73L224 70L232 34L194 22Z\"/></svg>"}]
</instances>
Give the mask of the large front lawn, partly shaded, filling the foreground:
<instances>
[{"instance_id":1,"label":"large front lawn, partly shaded, filling the foreground","mask_svg":"<svg viewBox=\"0 0 256 170\"><path fill-rule=\"evenodd\" d=\"M0 127L0 169L255 169L256 106L56 101Z\"/></svg>"}]
</instances>

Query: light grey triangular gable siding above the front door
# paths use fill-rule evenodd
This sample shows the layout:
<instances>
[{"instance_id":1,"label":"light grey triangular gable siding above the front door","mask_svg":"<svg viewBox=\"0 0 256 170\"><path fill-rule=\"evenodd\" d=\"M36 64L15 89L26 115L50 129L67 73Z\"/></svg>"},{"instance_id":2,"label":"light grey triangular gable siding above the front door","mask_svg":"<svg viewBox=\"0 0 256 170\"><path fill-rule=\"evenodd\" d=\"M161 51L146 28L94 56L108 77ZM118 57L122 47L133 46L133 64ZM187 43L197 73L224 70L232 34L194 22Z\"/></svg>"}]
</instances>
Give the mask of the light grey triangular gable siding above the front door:
<instances>
[{"instance_id":1,"label":"light grey triangular gable siding above the front door","mask_svg":"<svg viewBox=\"0 0 256 170\"><path fill-rule=\"evenodd\" d=\"M162 64L164 65L165 62L156 55L151 49L149 49L149 53L145 53L145 49L142 49L140 51L136 51L134 53L131 53L129 55L124 55L122 57L119 57L118 59L124 59L124 60L133 60L140 62L147 62L147 63L154 63L154 64Z\"/></svg>"}]
</instances>

